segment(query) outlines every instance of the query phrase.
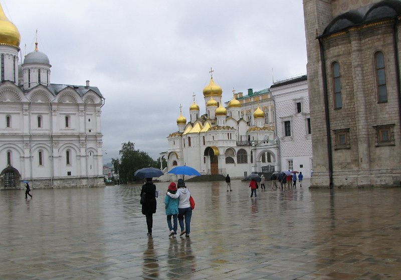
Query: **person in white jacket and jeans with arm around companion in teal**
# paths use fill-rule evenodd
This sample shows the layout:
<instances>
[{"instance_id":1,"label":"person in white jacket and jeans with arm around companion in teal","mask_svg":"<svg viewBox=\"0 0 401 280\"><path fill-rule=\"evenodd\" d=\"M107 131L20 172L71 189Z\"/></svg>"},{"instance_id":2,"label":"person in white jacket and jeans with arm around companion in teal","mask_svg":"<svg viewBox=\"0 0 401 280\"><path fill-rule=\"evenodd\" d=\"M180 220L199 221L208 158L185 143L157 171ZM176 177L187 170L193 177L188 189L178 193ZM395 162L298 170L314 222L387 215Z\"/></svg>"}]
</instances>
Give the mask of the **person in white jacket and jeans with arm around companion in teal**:
<instances>
[{"instance_id":1,"label":"person in white jacket and jeans with arm around companion in teal","mask_svg":"<svg viewBox=\"0 0 401 280\"><path fill-rule=\"evenodd\" d=\"M191 205L189 204L189 197L191 194L189 192L189 189L185 186L185 182L183 179L178 179L177 187L178 189L175 194L167 192L167 195L171 198L178 198L178 222L179 227L181 228L181 233L179 234L179 236L185 234L186 237L189 237L192 216L192 209Z\"/></svg>"}]
</instances>

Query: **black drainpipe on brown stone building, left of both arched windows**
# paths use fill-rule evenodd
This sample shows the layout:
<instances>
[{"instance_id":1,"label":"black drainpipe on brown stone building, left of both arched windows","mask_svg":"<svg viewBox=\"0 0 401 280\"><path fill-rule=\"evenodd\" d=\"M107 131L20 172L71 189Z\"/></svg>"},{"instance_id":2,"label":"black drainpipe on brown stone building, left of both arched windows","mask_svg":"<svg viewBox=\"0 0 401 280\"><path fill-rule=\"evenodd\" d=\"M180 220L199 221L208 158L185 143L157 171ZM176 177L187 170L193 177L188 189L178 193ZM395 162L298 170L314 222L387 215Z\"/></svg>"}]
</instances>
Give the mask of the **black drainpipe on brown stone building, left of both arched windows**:
<instances>
[{"instance_id":1,"label":"black drainpipe on brown stone building, left of both arched windows","mask_svg":"<svg viewBox=\"0 0 401 280\"><path fill-rule=\"evenodd\" d=\"M326 120L326 134L327 134L327 156L329 163L329 188L333 188L333 155L331 153L331 133L330 133L330 121L329 121L329 101L327 92L327 77L326 77L326 62L324 58L324 48L322 39L319 38L320 47L320 61L322 63L322 81L323 81L323 96L324 96L324 113Z\"/></svg>"}]
</instances>

